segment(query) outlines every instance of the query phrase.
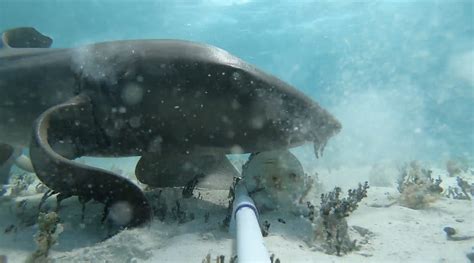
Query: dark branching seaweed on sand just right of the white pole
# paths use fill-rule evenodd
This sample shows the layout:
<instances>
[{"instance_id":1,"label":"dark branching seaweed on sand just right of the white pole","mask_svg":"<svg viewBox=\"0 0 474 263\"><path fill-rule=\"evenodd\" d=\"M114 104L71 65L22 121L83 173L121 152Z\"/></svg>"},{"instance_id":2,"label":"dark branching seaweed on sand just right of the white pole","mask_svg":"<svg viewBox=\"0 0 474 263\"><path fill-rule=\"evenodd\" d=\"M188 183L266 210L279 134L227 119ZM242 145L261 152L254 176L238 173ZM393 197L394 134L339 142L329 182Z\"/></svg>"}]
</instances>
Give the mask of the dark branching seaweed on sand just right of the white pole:
<instances>
[{"instance_id":1,"label":"dark branching seaweed on sand just right of the white pole","mask_svg":"<svg viewBox=\"0 0 474 263\"><path fill-rule=\"evenodd\" d=\"M319 215L313 221L314 240L327 254L347 254L357 249L356 240L351 240L346 217L357 209L359 202L367 197L368 182L348 190L347 197L341 199L341 188L321 195ZM308 204L308 207L314 206Z\"/></svg>"}]
</instances>

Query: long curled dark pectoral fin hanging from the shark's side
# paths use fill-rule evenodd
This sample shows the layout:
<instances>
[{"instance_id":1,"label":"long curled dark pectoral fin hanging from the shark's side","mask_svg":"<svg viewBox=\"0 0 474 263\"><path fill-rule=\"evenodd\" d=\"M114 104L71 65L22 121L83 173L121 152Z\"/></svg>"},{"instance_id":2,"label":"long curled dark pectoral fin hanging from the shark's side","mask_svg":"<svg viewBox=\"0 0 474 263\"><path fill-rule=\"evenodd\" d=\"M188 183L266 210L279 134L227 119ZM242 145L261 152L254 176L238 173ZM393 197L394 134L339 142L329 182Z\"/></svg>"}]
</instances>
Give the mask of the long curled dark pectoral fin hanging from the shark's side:
<instances>
[{"instance_id":1,"label":"long curled dark pectoral fin hanging from the shark's side","mask_svg":"<svg viewBox=\"0 0 474 263\"><path fill-rule=\"evenodd\" d=\"M105 211L115 211L112 220L120 227L140 226L151 220L151 206L138 186L112 172L71 160L101 145L88 96L78 95L48 109L33 129L31 160L45 185L66 196L104 203Z\"/></svg>"}]
</instances>

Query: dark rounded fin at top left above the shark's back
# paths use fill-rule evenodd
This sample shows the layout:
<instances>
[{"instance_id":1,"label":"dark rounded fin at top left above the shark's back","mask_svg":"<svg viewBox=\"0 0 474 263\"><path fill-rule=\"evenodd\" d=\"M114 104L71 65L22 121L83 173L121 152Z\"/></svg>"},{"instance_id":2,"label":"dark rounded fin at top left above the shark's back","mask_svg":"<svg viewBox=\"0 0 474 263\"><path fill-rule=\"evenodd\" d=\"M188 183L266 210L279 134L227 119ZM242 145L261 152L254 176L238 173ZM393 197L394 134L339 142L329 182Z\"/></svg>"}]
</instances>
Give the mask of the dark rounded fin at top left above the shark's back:
<instances>
[{"instance_id":1,"label":"dark rounded fin at top left above the shark's back","mask_svg":"<svg viewBox=\"0 0 474 263\"><path fill-rule=\"evenodd\" d=\"M18 27L2 34L0 46L11 48L49 48L53 40L32 27Z\"/></svg>"}]
</instances>

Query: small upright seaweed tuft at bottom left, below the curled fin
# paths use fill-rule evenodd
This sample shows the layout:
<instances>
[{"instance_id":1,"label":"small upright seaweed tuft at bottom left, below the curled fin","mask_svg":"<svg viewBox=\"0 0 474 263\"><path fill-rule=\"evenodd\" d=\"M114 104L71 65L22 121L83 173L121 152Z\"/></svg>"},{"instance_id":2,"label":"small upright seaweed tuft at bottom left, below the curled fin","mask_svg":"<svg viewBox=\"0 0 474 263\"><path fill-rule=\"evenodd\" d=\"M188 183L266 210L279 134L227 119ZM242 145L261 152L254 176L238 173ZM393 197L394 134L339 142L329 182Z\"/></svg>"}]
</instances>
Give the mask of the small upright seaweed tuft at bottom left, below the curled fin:
<instances>
[{"instance_id":1,"label":"small upright seaweed tuft at bottom left, below the curled fin","mask_svg":"<svg viewBox=\"0 0 474 263\"><path fill-rule=\"evenodd\" d=\"M27 263L49 262L51 247L56 244L63 226L56 212L40 213L38 216L38 232L35 235L37 249L26 260Z\"/></svg>"}]
</instances>

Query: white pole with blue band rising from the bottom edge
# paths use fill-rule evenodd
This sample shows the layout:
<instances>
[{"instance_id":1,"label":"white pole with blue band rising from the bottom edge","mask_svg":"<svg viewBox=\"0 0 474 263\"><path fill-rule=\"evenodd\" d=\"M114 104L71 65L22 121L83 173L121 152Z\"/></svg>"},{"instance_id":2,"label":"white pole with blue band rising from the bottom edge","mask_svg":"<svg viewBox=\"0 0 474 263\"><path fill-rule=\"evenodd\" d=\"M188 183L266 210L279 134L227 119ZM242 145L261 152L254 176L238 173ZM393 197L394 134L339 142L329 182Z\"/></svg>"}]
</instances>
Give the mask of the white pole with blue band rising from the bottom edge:
<instances>
[{"instance_id":1,"label":"white pole with blue band rising from the bottom edge","mask_svg":"<svg viewBox=\"0 0 474 263\"><path fill-rule=\"evenodd\" d=\"M237 260L239 263L267 263L270 256L263 243L258 224L258 211L243 184L235 187L230 231L237 236Z\"/></svg>"}]
</instances>

